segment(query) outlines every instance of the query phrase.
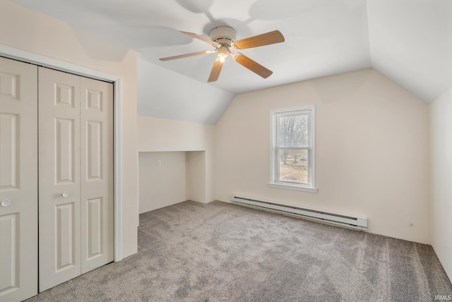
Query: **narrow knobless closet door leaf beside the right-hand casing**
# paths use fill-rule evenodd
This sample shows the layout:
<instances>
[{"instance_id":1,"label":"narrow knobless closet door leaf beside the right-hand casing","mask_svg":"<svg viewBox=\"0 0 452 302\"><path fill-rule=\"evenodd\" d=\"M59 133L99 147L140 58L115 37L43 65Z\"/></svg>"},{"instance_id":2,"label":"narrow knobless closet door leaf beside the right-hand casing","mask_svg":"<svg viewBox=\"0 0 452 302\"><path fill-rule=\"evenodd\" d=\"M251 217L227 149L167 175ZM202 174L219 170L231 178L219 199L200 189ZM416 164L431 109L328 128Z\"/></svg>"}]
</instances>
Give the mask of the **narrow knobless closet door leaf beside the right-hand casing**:
<instances>
[{"instance_id":1,"label":"narrow knobless closet door leaf beside the right-hand casing","mask_svg":"<svg viewBox=\"0 0 452 302\"><path fill-rule=\"evenodd\" d=\"M82 274L114 260L113 85L81 78Z\"/></svg>"}]
</instances>

